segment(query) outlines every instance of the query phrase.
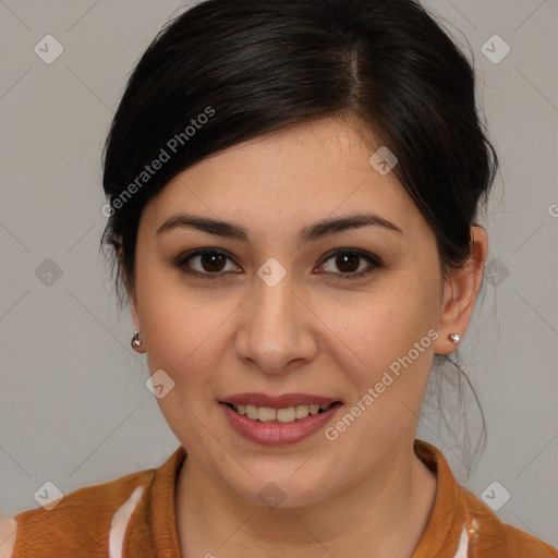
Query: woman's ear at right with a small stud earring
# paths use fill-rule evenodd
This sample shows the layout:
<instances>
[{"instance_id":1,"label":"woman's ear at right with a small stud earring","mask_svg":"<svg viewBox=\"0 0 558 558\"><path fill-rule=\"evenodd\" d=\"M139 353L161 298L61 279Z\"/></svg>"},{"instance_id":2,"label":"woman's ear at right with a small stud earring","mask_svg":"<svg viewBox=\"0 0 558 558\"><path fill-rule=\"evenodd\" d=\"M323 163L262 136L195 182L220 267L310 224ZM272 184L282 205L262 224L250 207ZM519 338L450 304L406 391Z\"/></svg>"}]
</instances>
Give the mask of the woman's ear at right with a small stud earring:
<instances>
[{"instance_id":1,"label":"woman's ear at right with a small stud earring","mask_svg":"<svg viewBox=\"0 0 558 558\"><path fill-rule=\"evenodd\" d=\"M456 350L457 345L449 336L459 333L463 339L473 315L488 256L488 235L483 227L471 227L471 243L470 258L462 268L452 270L444 283L442 307L438 324L440 336L434 344L436 354L448 354Z\"/></svg>"}]
</instances>

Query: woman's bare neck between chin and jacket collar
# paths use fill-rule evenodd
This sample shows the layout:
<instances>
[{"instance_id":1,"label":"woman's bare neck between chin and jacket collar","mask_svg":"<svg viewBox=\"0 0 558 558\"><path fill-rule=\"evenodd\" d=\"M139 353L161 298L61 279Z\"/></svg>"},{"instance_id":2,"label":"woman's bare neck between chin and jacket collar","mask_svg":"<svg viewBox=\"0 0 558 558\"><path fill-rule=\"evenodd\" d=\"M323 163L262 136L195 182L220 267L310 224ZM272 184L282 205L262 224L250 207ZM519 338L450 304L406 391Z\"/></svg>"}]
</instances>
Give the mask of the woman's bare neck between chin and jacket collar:
<instances>
[{"instance_id":1,"label":"woman's bare neck between chin and jacket collar","mask_svg":"<svg viewBox=\"0 0 558 558\"><path fill-rule=\"evenodd\" d=\"M199 463L186 458L177 484L177 523L184 558L269 557L410 558L426 527L435 475L405 440L381 466L305 507L268 509L241 499Z\"/></svg>"}]
</instances>

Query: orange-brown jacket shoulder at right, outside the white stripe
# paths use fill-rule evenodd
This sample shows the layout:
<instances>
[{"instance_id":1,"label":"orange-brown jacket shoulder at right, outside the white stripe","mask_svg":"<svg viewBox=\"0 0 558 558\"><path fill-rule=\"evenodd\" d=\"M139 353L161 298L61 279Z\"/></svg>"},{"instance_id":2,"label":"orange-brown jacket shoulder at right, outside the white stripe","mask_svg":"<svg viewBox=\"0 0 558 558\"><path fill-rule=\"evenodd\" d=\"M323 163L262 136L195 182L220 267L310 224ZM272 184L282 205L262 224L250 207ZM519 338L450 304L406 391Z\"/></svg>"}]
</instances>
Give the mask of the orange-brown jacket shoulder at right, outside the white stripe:
<instances>
[{"instance_id":1,"label":"orange-brown jacket shoulder at right, outside the white stripe","mask_svg":"<svg viewBox=\"0 0 558 558\"><path fill-rule=\"evenodd\" d=\"M477 548L480 557L558 557L558 549L520 529L504 523L488 506L463 486L459 486L459 494L474 519L471 541Z\"/></svg>"}]
</instances>

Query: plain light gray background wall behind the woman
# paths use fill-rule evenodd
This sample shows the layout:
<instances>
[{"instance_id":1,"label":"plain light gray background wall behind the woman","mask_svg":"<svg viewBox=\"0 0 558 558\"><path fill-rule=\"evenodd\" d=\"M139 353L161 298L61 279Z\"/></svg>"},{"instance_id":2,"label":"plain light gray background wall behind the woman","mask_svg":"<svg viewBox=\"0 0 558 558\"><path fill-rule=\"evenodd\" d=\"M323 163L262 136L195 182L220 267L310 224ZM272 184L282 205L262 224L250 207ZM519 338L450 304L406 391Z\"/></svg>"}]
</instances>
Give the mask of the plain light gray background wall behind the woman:
<instances>
[{"instance_id":1,"label":"plain light gray background wall behind the woman","mask_svg":"<svg viewBox=\"0 0 558 558\"><path fill-rule=\"evenodd\" d=\"M134 62L185 5L0 0L3 513L37 507L46 481L68 494L158 466L179 446L145 387L144 357L130 349L132 322L128 308L117 312L98 243L111 117ZM487 446L466 475L434 416L424 415L418 436L477 496L499 482L511 495L504 521L558 545L558 1L425 5L473 49L502 168L483 220L490 280L459 350ZM48 34L64 49L51 64L34 51ZM482 51L495 34L511 48L499 63Z\"/></svg>"}]
</instances>

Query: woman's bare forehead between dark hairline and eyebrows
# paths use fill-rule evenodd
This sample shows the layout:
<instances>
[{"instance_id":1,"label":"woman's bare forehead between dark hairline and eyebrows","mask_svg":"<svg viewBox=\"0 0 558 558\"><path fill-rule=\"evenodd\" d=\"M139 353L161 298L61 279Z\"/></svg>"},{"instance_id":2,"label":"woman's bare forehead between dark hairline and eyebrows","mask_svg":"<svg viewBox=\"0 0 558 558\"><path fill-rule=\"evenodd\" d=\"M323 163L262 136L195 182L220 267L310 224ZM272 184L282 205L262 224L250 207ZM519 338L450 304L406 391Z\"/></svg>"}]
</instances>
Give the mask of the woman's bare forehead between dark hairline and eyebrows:
<instances>
[{"instance_id":1,"label":"woman's bare forehead between dark hairline and eyebrows","mask_svg":"<svg viewBox=\"0 0 558 558\"><path fill-rule=\"evenodd\" d=\"M424 226L393 172L369 163L379 146L339 119L300 124L233 146L186 169L144 210L153 227L183 210L265 232L373 211Z\"/></svg>"}]
</instances>

